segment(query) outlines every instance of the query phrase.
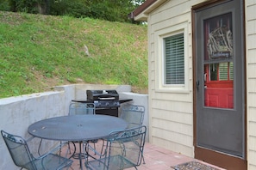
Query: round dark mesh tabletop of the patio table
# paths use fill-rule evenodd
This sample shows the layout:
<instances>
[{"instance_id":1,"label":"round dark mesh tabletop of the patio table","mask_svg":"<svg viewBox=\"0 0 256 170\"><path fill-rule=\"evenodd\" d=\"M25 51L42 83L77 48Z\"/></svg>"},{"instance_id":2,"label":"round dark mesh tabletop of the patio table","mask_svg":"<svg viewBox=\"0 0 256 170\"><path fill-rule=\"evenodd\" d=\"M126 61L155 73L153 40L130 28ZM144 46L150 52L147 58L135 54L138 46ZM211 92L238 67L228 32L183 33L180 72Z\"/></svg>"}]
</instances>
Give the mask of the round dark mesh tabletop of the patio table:
<instances>
[{"instance_id":1,"label":"round dark mesh tabletop of the patio table","mask_svg":"<svg viewBox=\"0 0 256 170\"><path fill-rule=\"evenodd\" d=\"M120 131L128 124L107 115L74 115L47 118L28 126L34 137L58 141L87 141L107 137L111 131Z\"/></svg>"}]
</instances>

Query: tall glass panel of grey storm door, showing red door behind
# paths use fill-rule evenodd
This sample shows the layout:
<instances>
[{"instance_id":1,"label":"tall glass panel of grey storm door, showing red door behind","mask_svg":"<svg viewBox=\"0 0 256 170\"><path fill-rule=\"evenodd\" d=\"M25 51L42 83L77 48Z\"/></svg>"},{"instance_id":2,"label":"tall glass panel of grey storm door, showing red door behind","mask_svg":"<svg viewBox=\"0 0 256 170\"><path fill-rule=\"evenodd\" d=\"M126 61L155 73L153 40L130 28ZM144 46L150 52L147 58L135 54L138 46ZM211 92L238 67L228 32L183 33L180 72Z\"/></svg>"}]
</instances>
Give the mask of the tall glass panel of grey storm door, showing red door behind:
<instances>
[{"instance_id":1,"label":"tall glass panel of grey storm door, showing red door behind","mask_svg":"<svg viewBox=\"0 0 256 170\"><path fill-rule=\"evenodd\" d=\"M234 108L232 13L203 21L204 106Z\"/></svg>"}]
</instances>

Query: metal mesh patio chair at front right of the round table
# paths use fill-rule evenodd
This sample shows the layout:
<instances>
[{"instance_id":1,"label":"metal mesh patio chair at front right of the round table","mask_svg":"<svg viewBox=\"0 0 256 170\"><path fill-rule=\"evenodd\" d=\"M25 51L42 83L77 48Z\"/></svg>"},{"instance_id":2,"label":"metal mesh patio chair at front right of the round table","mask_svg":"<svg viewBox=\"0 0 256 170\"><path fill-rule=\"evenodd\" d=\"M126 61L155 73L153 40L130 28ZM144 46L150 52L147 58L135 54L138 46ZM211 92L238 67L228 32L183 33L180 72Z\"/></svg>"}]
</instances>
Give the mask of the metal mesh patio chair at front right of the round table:
<instances>
[{"instance_id":1,"label":"metal mesh patio chair at front right of the round table","mask_svg":"<svg viewBox=\"0 0 256 170\"><path fill-rule=\"evenodd\" d=\"M84 152L89 152L91 149L99 156L97 159L91 160L87 156L85 167L93 170L122 170L129 167L137 169L142 159L146 131L146 126L140 126L111 132L106 138L107 144L102 154L85 143Z\"/></svg>"}]
</instances>

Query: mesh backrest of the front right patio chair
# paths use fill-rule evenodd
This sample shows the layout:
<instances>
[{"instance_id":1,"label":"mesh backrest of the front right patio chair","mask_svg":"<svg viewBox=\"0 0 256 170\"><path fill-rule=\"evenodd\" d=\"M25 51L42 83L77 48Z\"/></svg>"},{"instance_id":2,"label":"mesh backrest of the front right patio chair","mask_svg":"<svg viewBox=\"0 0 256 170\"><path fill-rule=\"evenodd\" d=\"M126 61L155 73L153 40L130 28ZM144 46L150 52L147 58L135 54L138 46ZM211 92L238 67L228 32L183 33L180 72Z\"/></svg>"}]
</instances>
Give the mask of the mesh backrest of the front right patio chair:
<instances>
[{"instance_id":1,"label":"mesh backrest of the front right patio chair","mask_svg":"<svg viewBox=\"0 0 256 170\"><path fill-rule=\"evenodd\" d=\"M139 166L145 145L146 131L146 126L140 126L125 131L111 132L108 138L108 169L124 169ZM122 159L119 159L120 157ZM124 161L128 163L124 163ZM113 165L115 167L111 167ZM116 168L116 165L119 168Z\"/></svg>"}]
</instances>

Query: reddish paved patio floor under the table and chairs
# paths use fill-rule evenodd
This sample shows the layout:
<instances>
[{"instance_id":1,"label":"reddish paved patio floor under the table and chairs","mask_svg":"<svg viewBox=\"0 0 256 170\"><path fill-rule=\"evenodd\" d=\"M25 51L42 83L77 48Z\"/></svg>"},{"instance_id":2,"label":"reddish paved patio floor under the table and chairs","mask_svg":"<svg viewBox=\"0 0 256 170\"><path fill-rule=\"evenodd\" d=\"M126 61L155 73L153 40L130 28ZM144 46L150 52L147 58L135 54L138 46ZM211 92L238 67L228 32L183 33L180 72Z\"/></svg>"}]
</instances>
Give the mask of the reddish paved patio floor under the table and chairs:
<instances>
[{"instance_id":1,"label":"reddish paved patio floor under the table and chairs","mask_svg":"<svg viewBox=\"0 0 256 170\"><path fill-rule=\"evenodd\" d=\"M78 145L77 145L77 149L78 149ZM139 170L168 170L168 169L173 170L172 167L178 164L182 164L188 161L198 161L188 156L184 156L184 155L180 155L178 153L172 152L171 150L157 147L150 143L145 144L144 158L146 163L143 164L143 161L141 161L141 165L140 167L138 167ZM199 161L199 162L207 164L203 161ZM209 165L209 166L215 167L213 165ZM223 168L220 168L220 167L215 167L215 168L224 170ZM80 169L79 160L73 159L72 168L70 169L79 170ZM84 167L84 160L83 160L83 169L86 170L86 167ZM128 168L128 170L132 170L132 169L134 168ZM200 169L200 170L203 170L203 169Z\"/></svg>"}]
</instances>

